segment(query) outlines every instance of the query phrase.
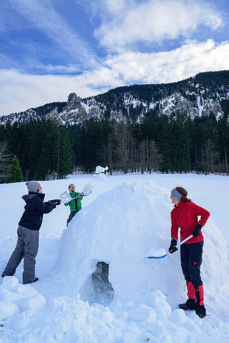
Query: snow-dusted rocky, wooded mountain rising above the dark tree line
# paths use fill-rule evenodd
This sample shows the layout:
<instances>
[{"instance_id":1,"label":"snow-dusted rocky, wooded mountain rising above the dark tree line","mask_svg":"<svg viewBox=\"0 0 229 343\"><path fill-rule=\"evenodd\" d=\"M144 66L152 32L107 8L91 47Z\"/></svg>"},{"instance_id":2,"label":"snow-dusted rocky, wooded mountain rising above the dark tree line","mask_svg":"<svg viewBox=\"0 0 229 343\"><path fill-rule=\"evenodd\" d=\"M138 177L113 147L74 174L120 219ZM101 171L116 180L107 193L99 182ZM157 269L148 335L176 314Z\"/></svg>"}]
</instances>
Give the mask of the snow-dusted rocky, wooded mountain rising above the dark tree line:
<instances>
[{"instance_id":1,"label":"snow-dusted rocky, wooded mountain rising above the dark tree line","mask_svg":"<svg viewBox=\"0 0 229 343\"><path fill-rule=\"evenodd\" d=\"M221 103L229 102L229 71L199 73L189 79L168 84L117 87L94 97L81 99L70 93L67 103L50 103L22 113L0 117L0 124L28 122L30 119L56 119L60 125L82 123L105 117L118 121L123 116L140 120L152 112L171 115L180 111L194 119L223 114Z\"/></svg>"}]
</instances>

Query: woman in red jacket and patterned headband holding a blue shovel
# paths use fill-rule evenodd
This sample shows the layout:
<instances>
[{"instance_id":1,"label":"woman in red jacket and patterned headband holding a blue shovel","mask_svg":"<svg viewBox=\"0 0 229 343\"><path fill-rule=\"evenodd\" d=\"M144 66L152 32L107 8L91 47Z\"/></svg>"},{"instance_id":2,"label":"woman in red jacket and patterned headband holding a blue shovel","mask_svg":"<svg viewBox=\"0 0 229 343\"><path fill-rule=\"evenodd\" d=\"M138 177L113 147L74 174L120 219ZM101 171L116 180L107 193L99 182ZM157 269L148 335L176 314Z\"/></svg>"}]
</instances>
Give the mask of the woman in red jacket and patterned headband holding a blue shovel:
<instances>
[{"instance_id":1,"label":"woman in red jacket and patterned headband holding a blue shovel","mask_svg":"<svg viewBox=\"0 0 229 343\"><path fill-rule=\"evenodd\" d=\"M186 303L179 304L178 307L183 310L195 310L200 318L204 318L206 309L200 272L204 237L201 229L206 224L210 213L187 199L187 194L183 187L176 187L171 191L170 198L174 204L174 209L171 212L171 245L169 251L172 254L178 250L176 244L179 227L181 228L181 241L191 234L193 235L180 247L181 267L187 284L188 299ZM199 221L198 216L201 216Z\"/></svg>"}]
</instances>

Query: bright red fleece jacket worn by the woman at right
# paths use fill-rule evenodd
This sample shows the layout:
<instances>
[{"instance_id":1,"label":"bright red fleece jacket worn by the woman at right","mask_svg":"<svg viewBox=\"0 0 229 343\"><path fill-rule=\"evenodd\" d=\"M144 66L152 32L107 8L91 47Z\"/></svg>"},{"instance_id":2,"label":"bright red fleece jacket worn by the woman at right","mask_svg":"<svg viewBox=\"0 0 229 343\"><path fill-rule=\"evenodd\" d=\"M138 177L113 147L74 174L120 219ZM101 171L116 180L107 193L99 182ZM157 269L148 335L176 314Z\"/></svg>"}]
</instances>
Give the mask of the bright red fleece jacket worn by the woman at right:
<instances>
[{"instance_id":1,"label":"bright red fleece jacket worn by the woman at right","mask_svg":"<svg viewBox=\"0 0 229 343\"><path fill-rule=\"evenodd\" d=\"M174 205L171 212L171 238L178 240L178 228L180 227L181 241L190 236L198 224L198 216L201 216L199 224L204 226L208 220L210 213L194 202L180 201L178 205ZM204 239L202 232L197 238L192 237L185 243L197 243Z\"/></svg>"}]
</instances>

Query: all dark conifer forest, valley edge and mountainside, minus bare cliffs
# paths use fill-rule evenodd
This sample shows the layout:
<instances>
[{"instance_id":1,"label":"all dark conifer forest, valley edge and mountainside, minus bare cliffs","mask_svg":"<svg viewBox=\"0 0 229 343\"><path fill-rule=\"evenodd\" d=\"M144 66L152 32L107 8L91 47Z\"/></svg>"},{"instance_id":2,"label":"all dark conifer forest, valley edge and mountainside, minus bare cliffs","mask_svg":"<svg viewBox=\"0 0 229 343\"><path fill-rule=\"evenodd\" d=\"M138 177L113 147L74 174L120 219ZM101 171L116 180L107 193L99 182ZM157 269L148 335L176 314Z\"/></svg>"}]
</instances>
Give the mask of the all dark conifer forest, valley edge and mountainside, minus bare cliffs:
<instances>
[{"instance_id":1,"label":"all dark conifer forest, valley edge and mountainside, minus bare cliffs","mask_svg":"<svg viewBox=\"0 0 229 343\"><path fill-rule=\"evenodd\" d=\"M161 171L228 176L228 80L225 70L168 84L117 87L94 97L105 106L105 119L79 124L61 126L44 118L56 106L58 113L62 111L66 103L60 102L3 116L0 182L65 178L72 172L92 173L97 165L108 166L111 174ZM173 92L193 104L198 98L201 106L209 99L217 101L221 114L202 111L191 118L179 109L163 113L160 101ZM127 108L127 95L140 105ZM109 119L111 110L120 110L123 119Z\"/></svg>"}]
</instances>

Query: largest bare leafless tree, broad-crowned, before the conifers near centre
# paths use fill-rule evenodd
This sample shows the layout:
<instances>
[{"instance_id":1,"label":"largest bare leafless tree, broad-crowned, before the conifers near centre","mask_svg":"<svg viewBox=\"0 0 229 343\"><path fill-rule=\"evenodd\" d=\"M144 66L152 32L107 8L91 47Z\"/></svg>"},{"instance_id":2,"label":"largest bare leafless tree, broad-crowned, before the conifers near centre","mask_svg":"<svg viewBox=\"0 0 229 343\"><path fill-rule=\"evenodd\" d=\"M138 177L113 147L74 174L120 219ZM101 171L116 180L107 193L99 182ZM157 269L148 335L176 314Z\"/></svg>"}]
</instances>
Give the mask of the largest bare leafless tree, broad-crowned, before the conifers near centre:
<instances>
[{"instance_id":1,"label":"largest bare leafless tree, broad-crowned, before the conifers near centre","mask_svg":"<svg viewBox=\"0 0 229 343\"><path fill-rule=\"evenodd\" d=\"M120 163L124 174L127 174L130 150L133 145L132 127L125 119L120 120L113 132L111 141L114 146L114 157Z\"/></svg>"}]
</instances>

